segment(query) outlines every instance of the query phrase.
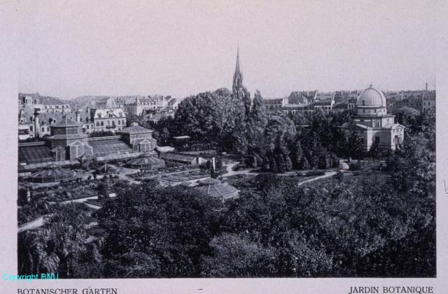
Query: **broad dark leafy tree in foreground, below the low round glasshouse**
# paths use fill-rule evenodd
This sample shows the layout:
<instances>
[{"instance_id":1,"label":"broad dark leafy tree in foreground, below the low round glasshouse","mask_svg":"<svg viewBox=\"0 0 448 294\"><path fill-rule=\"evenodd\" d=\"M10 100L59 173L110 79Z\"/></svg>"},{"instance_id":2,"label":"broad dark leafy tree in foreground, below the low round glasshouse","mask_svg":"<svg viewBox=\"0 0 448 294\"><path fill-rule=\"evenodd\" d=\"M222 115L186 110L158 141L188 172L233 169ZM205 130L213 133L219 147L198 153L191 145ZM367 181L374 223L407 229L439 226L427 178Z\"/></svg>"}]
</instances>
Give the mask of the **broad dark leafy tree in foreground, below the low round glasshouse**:
<instances>
[{"instance_id":1,"label":"broad dark leafy tree in foreground, below the low round glasshouse","mask_svg":"<svg viewBox=\"0 0 448 294\"><path fill-rule=\"evenodd\" d=\"M108 262L118 264L124 258L126 264L144 265L153 260L133 270L132 277L197 277L221 203L193 189L153 182L123 186L116 193L97 212L106 229L103 253Z\"/></svg>"}]
</instances>

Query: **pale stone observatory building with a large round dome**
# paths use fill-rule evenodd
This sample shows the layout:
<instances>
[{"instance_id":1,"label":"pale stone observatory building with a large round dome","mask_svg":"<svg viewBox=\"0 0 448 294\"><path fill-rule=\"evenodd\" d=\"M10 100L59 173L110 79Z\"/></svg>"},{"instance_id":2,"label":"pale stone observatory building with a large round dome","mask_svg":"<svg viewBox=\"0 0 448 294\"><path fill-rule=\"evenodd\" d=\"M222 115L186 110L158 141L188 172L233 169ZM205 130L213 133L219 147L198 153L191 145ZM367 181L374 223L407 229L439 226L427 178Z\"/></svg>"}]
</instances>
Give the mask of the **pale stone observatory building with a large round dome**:
<instances>
[{"instance_id":1,"label":"pale stone observatory building with a large round dome","mask_svg":"<svg viewBox=\"0 0 448 294\"><path fill-rule=\"evenodd\" d=\"M356 116L342 125L346 138L354 130L363 139L367 152L372 145L379 149L400 149L405 138L405 126L395 124L395 115L388 115L386 97L372 85L363 90L356 102Z\"/></svg>"}]
</instances>

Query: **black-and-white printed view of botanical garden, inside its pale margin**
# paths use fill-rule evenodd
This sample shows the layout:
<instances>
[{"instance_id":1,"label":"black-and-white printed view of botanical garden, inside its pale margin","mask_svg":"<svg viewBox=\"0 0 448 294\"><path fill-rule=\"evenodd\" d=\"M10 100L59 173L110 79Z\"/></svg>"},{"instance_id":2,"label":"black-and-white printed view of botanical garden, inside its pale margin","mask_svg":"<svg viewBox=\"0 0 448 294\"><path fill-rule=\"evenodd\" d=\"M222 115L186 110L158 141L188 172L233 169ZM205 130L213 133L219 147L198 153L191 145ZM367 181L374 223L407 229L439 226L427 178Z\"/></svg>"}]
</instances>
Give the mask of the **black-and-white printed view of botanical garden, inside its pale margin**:
<instances>
[{"instance_id":1,"label":"black-and-white printed view of botanical garden, inside its pale margin","mask_svg":"<svg viewBox=\"0 0 448 294\"><path fill-rule=\"evenodd\" d=\"M435 279L436 2L17 1L2 279Z\"/></svg>"}]
</instances>

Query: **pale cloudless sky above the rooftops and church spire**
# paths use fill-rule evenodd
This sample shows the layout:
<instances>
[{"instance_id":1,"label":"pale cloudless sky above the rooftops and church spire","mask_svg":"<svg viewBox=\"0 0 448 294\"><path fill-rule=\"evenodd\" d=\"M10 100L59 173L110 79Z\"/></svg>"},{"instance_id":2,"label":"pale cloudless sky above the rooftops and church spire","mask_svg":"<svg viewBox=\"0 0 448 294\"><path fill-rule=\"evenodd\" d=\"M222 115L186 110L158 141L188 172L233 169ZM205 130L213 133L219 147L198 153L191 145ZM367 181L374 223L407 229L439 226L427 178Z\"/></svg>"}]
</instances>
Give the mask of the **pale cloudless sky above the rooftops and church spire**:
<instances>
[{"instance_id":1,"label":"pale cloudless sky above the rooftops and church spire","mask_svg":"<svg viewBox=\"0 0 448 294\"><path fill-rule=\"evenodd\" d=\"M435 89L433 1L18 1L19 91Z\"/></svg>"}]
</instances>

